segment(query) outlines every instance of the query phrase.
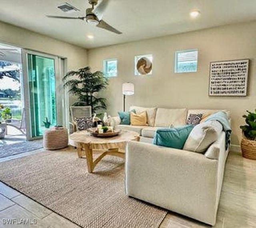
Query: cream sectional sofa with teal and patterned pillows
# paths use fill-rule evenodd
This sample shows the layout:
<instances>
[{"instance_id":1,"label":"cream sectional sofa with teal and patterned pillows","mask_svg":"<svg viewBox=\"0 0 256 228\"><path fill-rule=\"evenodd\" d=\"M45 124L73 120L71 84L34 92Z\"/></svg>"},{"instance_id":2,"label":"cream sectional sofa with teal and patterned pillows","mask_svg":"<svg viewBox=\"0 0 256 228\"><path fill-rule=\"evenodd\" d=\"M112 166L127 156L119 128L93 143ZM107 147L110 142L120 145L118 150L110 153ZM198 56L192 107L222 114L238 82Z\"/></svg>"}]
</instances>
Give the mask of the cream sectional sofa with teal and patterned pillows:
<instances>
[{"instance_id":1,"label":"cream sectional sofa with teal and patterned pillows","mask_svg":"<svg viewBox=\"0 0 256 228\"><path fill-rule=\"evenodd\" d=\"M214 225L228 156L225 132L204 154L153 145L152 138L158 128L184 125L190 113L216 111L158 108L154 126L118 125L141 135L140 142L127 144L126 194Z\"/></svg>"}]
</instances>

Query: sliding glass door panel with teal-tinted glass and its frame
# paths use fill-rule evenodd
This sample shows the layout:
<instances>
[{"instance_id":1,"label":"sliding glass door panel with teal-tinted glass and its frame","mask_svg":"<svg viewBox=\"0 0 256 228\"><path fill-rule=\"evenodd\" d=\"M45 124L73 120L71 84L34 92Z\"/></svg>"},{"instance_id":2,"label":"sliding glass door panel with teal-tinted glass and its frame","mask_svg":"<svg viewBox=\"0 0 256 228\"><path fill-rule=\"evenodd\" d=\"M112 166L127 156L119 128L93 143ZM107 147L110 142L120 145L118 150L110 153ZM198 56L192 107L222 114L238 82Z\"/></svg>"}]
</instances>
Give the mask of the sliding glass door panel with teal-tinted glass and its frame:
<instances>
[{"instance_id":1,"label":"sliding glass door panel with teal-tinted glass and its frame","mask_svg":"<svg viewBox=\"0 0 256 228\"><path fill-rule=\"evenodd\" d=\"M42 137L46 127L57 125L56 74L58 57L22 50L26 138ZM47 120L46 120L47 118Z\"/></svg>"}]
</instances>

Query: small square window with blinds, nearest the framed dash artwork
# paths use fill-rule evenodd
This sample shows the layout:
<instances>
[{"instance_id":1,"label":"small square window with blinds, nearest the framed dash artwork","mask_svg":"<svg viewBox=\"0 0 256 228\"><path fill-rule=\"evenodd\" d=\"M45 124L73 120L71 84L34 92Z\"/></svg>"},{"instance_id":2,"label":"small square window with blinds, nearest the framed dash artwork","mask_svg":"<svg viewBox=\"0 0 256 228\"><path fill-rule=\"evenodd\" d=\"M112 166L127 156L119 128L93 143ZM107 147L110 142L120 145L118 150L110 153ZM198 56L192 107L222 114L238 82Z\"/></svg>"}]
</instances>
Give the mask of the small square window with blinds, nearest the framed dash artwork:
<instances>
[{"instance_id":1,"label":"small square window with blinds, nearest the framed dash artwork","mask_svg":"<svg viewBox=\"0 0 256 228\"><path fill-rule=\"evenodd\" d=\"M175 73L196 72L198 50L183 50L175 52Z\"/></svg>"}]
</instances>

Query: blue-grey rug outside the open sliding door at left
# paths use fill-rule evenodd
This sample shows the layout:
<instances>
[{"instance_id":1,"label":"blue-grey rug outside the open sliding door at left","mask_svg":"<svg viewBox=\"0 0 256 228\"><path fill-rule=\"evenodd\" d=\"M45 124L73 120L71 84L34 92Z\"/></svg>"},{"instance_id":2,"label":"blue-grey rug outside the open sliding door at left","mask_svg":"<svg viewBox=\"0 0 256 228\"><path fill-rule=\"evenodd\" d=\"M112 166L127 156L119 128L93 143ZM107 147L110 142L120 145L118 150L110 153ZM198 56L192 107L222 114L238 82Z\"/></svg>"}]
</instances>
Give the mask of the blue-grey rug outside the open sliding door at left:
<instances>
[{"instance_id":1,"label":"blue-grey rug outside the open sliding door at left","mask_svg":"<svg viewBox=\"0 0 256 228\"><path fill-rule=\"evenodd\" d=\"M34 151L43 148L42 140L26 141L20 143L13 143L10 145L0 145L0 158L18 155L28 151Z\"/></svg>"}]
</instances>

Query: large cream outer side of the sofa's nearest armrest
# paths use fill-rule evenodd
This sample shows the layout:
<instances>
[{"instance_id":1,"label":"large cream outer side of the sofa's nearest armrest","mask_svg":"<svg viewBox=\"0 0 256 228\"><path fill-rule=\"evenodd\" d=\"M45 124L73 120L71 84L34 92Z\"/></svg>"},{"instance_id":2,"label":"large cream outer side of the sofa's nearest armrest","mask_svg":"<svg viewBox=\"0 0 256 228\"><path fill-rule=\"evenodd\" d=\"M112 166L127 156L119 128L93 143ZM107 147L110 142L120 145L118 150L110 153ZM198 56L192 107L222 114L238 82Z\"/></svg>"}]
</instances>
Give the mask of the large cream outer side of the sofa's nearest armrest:
<instances>
[{"instance_id":1,"label":"large cream outer side of the sofa's nearest armrest","mask_svg":"<svg viewBox=\"0 0 256 228\"><path fill-rule=\"evenodd\" d=\"M128 142L126 194L215 224L218 160L200 153Z\"/></svg>"}]
</instances>

